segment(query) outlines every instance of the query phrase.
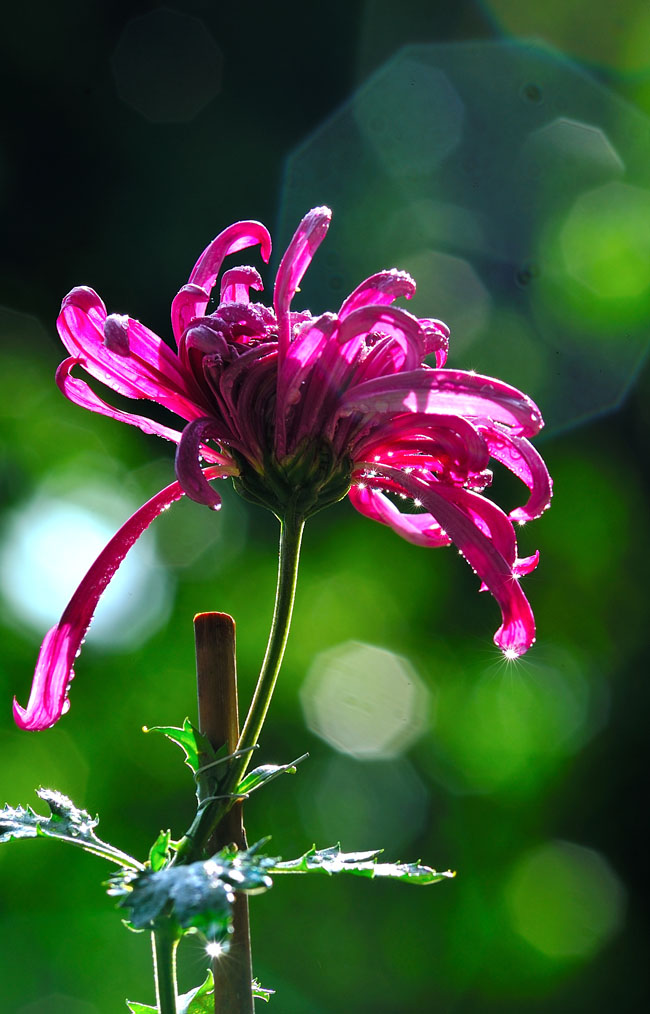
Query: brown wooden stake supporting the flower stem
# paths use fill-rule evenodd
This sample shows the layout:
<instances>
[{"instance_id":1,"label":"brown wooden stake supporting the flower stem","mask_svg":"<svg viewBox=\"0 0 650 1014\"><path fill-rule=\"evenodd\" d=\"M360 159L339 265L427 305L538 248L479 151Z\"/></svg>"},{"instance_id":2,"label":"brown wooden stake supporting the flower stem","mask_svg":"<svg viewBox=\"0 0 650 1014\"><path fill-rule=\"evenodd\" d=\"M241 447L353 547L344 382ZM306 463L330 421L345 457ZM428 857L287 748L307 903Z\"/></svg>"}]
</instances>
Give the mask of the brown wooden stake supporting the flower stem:
<instances>
[{"instance_id":1,"label":"brown wooden stake supporting the flower stem","mask_svg":"<svg viewBox=\"0 0 650 1014\"><path fill-rule=\"evenodd\" d=\"M199 694L199 728L215 749L227 744L232 752L239 738L234 620L226 612L200 612L194 619ZM234 843L246 848L241 803L235 803L212 836L209 847L218 852ZM254 1014L248 898L237 893L233 906L234 931L227 954L215 958L215 1014Z\"/></svg>"}]
</instances>

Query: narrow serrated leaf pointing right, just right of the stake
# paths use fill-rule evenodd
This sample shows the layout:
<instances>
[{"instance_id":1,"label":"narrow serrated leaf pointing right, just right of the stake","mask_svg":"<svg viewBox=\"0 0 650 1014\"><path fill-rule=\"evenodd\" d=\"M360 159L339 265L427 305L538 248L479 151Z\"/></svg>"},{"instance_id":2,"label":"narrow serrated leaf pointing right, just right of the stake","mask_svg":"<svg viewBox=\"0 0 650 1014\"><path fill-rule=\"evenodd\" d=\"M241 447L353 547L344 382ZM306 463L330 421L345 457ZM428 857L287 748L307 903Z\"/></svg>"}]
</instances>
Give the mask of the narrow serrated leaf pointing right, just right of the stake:
<instances>
[{"instance_id":1,"label":"narrow serrated leaf pointing right, just right of the stake","mask_svg":"<svg viewBox=\"0 0 650 1014\"><path fill-rule=\"evenodd\" d=\"M421 866L418 863L380 863L378 862L380 855L381 850L378 852L342 852L339 845L319 850L314 847L298 859L276 863L269 867L268 872L270 874L324 873L327 876L333 876L337 873L352 873L360 877L383 877L412 884L433 884L455 876L450 870L439 873L429 866Z\"/></svg>"}]
</instances>

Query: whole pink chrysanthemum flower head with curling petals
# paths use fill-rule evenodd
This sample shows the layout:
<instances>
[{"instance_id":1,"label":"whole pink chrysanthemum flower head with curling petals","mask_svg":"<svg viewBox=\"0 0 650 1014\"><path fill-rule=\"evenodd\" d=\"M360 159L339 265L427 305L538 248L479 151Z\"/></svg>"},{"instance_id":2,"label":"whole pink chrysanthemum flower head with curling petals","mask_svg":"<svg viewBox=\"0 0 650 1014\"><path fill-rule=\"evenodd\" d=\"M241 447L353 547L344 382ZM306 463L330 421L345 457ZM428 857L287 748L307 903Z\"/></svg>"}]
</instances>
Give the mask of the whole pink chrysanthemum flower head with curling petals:
<instances>
[{"instance_id":1,"label":"whole pink chrysanthemum flower head with curling petals","mask_svg":"<svg viewBox=\"0 0 650 1014\"><path fill-rule=\"evenodd\" d=\"M497 645L516 657L532 644L519 578L537 556L518 559L512 521L537 517L551 498L547 468L527 440L543 426L539 411L500 380L443 369L446 327L391 305L415 292L405 272L366 279L338 314L292 311L330 218L328 208L303 218L280 264L272 307L250 300L262 279L240 267L223 274L219 305L208 313L225 257L254 245L265 262L271 254L259 222L221 232L172 302L177 351L138 320L107 314L92 289L64 299L58 329L70 358L57 372L60 388L85 409L174 441L177 482L120 529L47 635L29 703L14 703L22 728L47 728L67 710L74 659L131 546L184 493L217 508L215 478L232 477L242 496L281 520L304 520L347 494L358 511L409 541L454 542L501 608ZM164 406L186 421L184 429L114 408L73 374L77 366L119 394ZM509 517L482 494L491 457L530 491ZM400 510L400 496L419 512Z\"/></svg>"}]
</instances>

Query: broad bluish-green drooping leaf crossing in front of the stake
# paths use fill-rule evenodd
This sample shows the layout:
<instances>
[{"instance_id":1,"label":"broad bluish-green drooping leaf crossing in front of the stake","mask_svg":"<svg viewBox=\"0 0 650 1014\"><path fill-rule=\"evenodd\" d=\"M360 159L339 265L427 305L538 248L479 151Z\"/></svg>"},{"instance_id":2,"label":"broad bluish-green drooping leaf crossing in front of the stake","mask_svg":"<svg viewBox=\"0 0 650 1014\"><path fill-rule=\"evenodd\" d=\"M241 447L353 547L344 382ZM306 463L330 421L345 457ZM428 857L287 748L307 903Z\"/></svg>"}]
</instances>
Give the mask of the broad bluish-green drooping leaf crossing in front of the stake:
<instances>
[{"instance_id":1,"label":"broad bluish-green drooping leaf crossing in front of the stake","mask_svg":"<svg viewBox=\"0 0 650 1014\"><path fill-rule=\"evenodd\" d=\"M170 917L183 930L220 940L231 931L234 891L268 890L273 881L266 871L274 862L248 851L222 849L205 862L116 874L109 893L121 898L135 929L153 929Z\"/></svg>"}]
</instances>

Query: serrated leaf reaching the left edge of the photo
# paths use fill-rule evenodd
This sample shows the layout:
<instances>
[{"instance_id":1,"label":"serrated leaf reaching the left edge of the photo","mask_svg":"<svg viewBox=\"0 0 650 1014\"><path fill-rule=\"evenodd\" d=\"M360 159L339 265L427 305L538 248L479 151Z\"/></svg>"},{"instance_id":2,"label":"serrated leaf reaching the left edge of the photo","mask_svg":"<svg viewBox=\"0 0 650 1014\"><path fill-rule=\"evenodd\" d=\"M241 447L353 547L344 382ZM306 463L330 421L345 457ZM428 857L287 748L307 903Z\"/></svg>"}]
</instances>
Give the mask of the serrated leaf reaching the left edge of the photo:
<instances>
[{"instance_id":1,"label":"serrated leaf reaching the left edge of the photo","mask_svg":"<svg viewBox=\"0 0 650 1014\"><path fill-rule=\"evenodd\" d=\"M37 795L48 804L50 816L37 813L30 806L5 806L0 810L0 844L11 839L54 838L68 845L76 845L102 859L129 869L142 869L142 864L132 856L94 832L99 820L91 817L55 789L38 789Z\"/></svg>"}]
</instances>

